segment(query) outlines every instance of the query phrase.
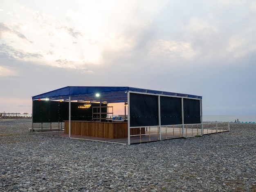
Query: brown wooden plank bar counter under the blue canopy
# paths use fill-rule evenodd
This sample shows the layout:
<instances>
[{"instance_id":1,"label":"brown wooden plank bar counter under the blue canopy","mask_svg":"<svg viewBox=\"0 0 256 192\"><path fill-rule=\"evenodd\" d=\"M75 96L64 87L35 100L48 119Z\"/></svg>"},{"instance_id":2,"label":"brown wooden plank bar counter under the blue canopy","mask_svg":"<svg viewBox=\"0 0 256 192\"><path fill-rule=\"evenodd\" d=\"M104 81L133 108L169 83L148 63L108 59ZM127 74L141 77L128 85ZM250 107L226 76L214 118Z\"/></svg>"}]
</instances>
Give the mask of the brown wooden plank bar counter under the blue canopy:
<instances>
[{"instance_id":1,"label":"brown wooden plank bar counter under the blue canopy","mask_svg":"<svg viewBox=\"0 0 256 192\"><path fill-rule=\"evenodd\" d=\"M102 138L128 137L127 122L71 121L71 134ZM139 135L139 128L130 129L130 135ZM65 134L69 134L69 122L65 121ZM141 134L145 128L141 127Z\"/></svg>"}]
</instances>

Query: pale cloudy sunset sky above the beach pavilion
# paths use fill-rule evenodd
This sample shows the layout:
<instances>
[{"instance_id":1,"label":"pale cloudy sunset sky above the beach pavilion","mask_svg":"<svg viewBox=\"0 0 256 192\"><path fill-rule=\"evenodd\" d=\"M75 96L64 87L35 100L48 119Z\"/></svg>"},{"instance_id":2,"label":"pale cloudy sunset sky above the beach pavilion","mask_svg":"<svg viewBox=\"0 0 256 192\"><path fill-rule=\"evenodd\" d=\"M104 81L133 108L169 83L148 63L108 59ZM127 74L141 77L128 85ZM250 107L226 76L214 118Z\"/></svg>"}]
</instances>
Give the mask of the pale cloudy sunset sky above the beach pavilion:
<instances>
[{"instance_id":1,"label":"pale cloudy sunset sky above the beach pavilion","mask_svg":"<svg viewBox=\"0 0 256 192\"><path fill-rule=\"evenodd\" d=\"M203 97L256 115L255 0L0 0L0 112L66 86Z\"/></svg>"}]
</instances>

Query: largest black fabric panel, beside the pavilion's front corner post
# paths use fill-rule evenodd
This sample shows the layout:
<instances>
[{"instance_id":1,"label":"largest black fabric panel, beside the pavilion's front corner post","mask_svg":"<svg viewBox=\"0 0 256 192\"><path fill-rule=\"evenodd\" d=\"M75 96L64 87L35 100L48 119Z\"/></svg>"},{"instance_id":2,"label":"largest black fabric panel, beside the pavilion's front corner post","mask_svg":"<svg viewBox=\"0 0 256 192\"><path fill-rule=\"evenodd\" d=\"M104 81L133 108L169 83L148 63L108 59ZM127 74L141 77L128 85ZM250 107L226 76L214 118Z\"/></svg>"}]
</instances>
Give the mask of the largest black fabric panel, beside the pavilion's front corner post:
<instances>
[{"instance_id":1,"label":"largest black fabric panel, beside the pavilion's front corner post","mask_svg":"<svg viewBox=\"0 0 256 192\"><path fill-rule=\"evenodd\" d=\"M130 93L130 126L155 126L158 123L158 98Z\"/></svg>"}]
</instances>

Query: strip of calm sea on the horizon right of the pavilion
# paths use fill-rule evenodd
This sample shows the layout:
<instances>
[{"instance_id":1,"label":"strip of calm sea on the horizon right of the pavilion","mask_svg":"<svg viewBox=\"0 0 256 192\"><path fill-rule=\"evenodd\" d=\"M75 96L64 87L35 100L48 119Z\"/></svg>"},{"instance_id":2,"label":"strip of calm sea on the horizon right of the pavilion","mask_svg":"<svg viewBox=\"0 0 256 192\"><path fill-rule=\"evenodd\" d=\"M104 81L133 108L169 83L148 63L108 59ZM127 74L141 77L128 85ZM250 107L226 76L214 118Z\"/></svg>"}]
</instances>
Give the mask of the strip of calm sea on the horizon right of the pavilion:
<instances>
[{"instance_id":1,"label":"strip of calm sea on the horizon right of the pavilion","mask_svg":"<svg viewBox=\"0 0 256 192\"><path fill-rule=\"evenodd\" d=\"M203 115L203 121L235 122L237 119L241 123L256 122L256 115Z\"/></svg>"}]
</instances>

